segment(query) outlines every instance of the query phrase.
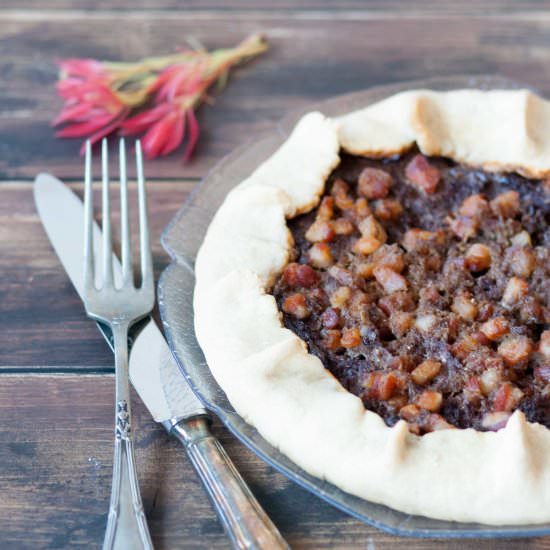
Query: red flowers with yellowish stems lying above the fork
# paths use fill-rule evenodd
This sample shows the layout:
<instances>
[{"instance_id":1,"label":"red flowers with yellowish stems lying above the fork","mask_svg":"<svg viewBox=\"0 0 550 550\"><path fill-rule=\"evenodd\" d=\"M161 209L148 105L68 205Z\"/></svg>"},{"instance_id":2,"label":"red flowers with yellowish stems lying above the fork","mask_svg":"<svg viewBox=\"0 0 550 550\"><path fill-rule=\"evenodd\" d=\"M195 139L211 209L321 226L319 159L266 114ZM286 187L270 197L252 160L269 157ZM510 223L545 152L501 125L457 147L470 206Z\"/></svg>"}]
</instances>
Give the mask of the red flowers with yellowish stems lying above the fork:
<instances>
[{"instance_id":1,"label":"red flowers with yellowish stems lying above the fork","mask_svg":"<svg viewBox=\"0 0 550 550\"><path fill-rule=\"evenodd\" d=\"M207 90L233 65L266 49L253 35L236 48L183 51L137 63L66 59L57 83L65 103L52 125L64 125L58 137L92 143L114 131L143 134L147 158L168 155L185 140L187 161L200 133L195 109L207 100Z\"/></svg>"}]
</instances>

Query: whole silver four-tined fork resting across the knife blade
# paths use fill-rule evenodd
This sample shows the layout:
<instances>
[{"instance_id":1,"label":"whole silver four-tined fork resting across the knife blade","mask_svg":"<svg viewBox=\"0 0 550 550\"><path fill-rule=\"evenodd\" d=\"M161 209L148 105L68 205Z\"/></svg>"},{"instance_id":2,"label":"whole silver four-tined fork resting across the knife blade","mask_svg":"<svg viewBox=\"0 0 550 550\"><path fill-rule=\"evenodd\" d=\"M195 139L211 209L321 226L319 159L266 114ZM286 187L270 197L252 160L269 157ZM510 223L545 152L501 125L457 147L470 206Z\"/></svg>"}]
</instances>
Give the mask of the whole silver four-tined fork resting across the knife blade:
<instances>
[{"instance_id":1,"label":"whole silver four-tined fork resting across the knife blade","mask_svg":"<svg viewBox=\"0 0 550 550\"><path fill-rule=\"evenodd\" d=\"M84 304L88 316L111 328L115 349L115 453L111 503L103 550L113 548L152 549L153 544L143 511L134 459L130 384L128 380L128 329L153 309L155 289L153 262L147 225L147 205L143 160L140 142L136 142L136 165L139 199L141 279L134 285L130 224L128 219L128 181L126 179L126 149L120 140L120 217L122 276L120 286L113 276L111 241L111 208L109 204L109 173L107 140L102 142L103 197L103 281L96 288L93 253L92 161L90 142L86 143L84 187Z\"/></svg>"}]
</instances>

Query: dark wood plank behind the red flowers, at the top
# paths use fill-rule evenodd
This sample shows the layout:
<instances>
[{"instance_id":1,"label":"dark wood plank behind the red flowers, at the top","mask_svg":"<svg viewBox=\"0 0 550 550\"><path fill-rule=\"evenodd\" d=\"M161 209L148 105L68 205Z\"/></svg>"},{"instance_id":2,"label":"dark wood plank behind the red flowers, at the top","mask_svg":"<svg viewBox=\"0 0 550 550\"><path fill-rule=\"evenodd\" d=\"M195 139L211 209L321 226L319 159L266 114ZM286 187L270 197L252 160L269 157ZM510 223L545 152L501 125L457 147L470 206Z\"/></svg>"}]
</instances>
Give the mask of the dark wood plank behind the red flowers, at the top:
<instances>
[{"instance_id":1,"label":"dark wood plank behind the red flowers, at the top","mask_svg":"<svg viewBox=\"0 0 550 550\"><path fill-rule=\"evenodd\" d=\"M139 14L138 14L139 15ZM234 73L215 106L200 110L195 159L150 164L155 178L201 177L269 121L309 102L375 84L430 75L502 73L550 94L550 18L395 17L385 13L155 11L4 12L0 18L0 179L50 170L79 177L79 144L53 137L48 122L60 102L54 61L71 56L135 59L172 51L194 35L209 47L264 32L271 50Z\"/></svg>"}]
</instances>

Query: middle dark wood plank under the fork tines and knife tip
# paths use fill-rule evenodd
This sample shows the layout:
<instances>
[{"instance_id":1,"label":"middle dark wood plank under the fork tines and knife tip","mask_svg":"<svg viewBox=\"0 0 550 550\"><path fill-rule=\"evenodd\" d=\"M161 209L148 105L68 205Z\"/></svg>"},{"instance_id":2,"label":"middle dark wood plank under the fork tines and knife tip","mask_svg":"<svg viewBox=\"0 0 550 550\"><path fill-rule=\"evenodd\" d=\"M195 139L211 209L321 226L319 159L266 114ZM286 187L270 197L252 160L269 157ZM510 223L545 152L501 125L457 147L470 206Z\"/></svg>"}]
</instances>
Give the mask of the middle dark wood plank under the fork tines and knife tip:
<instances>
[{"instance_id":1,"label":"middle dark wood plank under the fork tines and knife tip","mask_svg":"<svg viewBox=\"0 0 550 550\"><path fill-rule=\"evenodd\" d=\"M160 245L160 234L193 185L150 182L148 186L157 276L168 262ZM130 187L135 198L132 193L135 186ZM80 185L73 188L82 190ZM99 204L99 196L96 198ZM133 209L134 213L136 210ZM117 211L118 196L113 194L115 224ZM0 243L0 370L15 367L65 370L75 365L84 370L111 369L111 353L94 323L86 317L82 302L42 228L30 183L0 186ZM137 242L134 244L137 246Z\"/></svg>"}]
</instances>

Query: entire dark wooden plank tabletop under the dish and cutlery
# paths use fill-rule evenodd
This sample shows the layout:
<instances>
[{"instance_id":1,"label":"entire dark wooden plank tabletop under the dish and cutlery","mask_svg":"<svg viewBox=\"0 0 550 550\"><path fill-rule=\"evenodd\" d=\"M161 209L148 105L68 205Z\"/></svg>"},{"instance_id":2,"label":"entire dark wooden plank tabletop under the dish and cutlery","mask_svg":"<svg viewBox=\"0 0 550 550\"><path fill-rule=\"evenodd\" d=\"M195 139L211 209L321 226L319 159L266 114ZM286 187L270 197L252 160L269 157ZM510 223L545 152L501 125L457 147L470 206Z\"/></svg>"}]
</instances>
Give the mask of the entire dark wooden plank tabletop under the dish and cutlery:
<instances>
[{"instance_id":1,"label":"entire dark wooden plank tabletop under the dish and cutlery","mask_svg":"<svg viewBox=\"0 0 550 550\"><path fill-rule=\"evenodd\" d=\"M25 4L25 8L22 5ZM147 165L158 238L198 179L290 109L403 79L500 73L550 96L549 2L529 0L3 0L0 7L0 547L98 548L111 479L113 360L42 230L38 171L80 190L79 144L53 137L56 59L131 60L194 35L267 36L263 58L201 109L194 160ZM135 399L138 469L157 548L228 546L183 450ZM550 548L550 538L446 543L391 537L291 484L219 425L216 435L296 548Z\"/></svg>"}]
</instances>

